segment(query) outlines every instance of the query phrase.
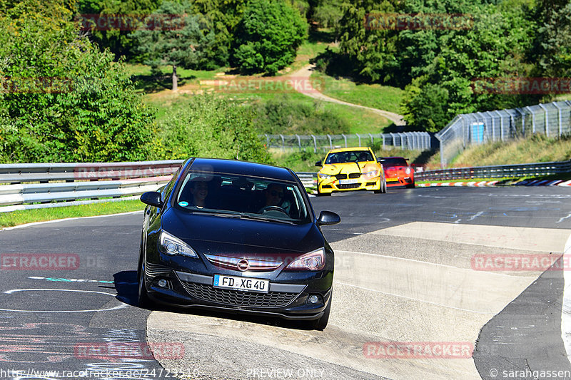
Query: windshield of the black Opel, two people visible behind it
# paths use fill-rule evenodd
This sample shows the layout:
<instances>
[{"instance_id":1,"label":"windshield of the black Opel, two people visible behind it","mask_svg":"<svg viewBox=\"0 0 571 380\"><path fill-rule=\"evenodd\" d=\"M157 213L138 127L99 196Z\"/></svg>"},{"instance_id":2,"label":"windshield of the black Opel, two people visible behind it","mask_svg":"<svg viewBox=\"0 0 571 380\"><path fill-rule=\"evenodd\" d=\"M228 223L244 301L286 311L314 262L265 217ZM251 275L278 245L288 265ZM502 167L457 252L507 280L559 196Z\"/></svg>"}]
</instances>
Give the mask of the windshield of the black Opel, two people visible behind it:
<instances>
[{"instance_id":1,"label":"windshield of the black Opel, two people visible behind it","mask_svg":"<svg viewBox=\"0 0 571 380\"><path fill-rule=\"evenodd\" d=\"M226 173L186 175L176 195L176 207L256 220L310 222L298 185L280 180Z\"/></svg>"}]
</instances>

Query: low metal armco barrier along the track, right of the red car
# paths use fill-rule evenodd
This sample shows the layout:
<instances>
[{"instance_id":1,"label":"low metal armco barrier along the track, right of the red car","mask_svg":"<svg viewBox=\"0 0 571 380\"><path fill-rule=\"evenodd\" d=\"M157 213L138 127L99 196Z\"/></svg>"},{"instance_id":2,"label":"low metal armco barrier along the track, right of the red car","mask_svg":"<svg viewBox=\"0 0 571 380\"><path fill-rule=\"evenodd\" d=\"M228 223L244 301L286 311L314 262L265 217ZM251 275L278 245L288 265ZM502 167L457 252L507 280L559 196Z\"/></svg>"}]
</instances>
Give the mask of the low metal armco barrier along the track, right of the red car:
<instances>
[{"instance_id":1,"label":"low metal armco barrier along the track, right of the red car","mask_svg":"<svg viewBox=\"0 0 571 380\"><path fill-rule=\"evenodd\" d=\"M473 178L514 178L561 173L571 173L571 160L551 163L427 170L415 173L415 178L417 180L464 180Z\"/></svg>"}]
</instances>

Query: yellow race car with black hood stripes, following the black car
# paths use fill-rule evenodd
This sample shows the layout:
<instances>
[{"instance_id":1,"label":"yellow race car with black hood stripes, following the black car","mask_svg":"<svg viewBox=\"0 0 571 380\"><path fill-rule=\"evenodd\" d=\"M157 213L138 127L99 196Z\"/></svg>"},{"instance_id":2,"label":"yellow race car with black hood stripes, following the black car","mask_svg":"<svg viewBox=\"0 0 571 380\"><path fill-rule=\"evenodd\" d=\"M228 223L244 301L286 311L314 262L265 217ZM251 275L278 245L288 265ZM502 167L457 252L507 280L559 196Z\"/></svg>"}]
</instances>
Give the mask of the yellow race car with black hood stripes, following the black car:
<instances>
[{"instance_id":1,"label":"yellow race car with black hood stripes, following the black car","mask_svg":"<svg viewBox=\"0 0 571 380\"><path fill-rule=\"evenodd\" d=\"M383 165L370 148L332 149L315 166L322 167L317 173L318 195L350 190L387 192Z\"/></svg>"}]
</instances>

